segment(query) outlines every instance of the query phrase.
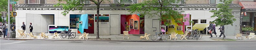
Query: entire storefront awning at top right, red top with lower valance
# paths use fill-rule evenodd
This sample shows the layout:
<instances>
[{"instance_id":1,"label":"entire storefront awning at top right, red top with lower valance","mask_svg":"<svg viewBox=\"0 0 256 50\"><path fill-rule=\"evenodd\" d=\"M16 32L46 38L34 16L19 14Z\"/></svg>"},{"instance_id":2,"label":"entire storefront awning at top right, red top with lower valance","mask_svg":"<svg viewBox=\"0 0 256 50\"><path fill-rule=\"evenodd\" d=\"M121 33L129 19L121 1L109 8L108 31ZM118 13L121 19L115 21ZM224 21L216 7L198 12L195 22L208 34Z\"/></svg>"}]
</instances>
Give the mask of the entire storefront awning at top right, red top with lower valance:
<instances>
[{"instance_id":1,"label":"entire storefront awning at top right, red top with lower valance","mask_svg":"<svg viewBox=\"0 0 256 50\"><path fill-rule=\"evenodd\" d=\"M241 11L256 11L256 2L239 2Z\"/></svg>"}]
</instances>

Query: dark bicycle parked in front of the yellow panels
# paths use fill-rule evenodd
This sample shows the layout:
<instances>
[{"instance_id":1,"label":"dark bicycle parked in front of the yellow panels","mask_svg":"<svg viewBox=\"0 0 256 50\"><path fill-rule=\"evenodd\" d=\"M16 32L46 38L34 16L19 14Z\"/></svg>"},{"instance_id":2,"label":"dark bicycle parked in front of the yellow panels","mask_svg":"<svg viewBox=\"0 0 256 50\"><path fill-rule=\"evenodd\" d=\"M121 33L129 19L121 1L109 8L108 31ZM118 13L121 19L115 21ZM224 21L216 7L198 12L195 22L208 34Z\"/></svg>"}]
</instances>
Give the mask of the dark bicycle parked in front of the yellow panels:
<instances>
[{"instance_id":1,"label":"dark bicycle parked in front of the yellow panels","mask_svg":"<svg viewBox=\"0 0 256 50\"><path fill-rule=\"evenodd\" d=\"M188 29L189 33L188 35L186 36L187 39L193 39L195 38L196 40L197 39L201 39L202 38L202 33L198 33L197 31L198 29L195 29L195 30L190 30Z\"/></svg>"}]
</instances>

